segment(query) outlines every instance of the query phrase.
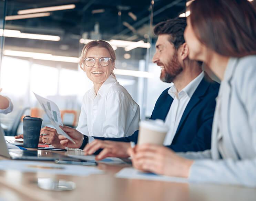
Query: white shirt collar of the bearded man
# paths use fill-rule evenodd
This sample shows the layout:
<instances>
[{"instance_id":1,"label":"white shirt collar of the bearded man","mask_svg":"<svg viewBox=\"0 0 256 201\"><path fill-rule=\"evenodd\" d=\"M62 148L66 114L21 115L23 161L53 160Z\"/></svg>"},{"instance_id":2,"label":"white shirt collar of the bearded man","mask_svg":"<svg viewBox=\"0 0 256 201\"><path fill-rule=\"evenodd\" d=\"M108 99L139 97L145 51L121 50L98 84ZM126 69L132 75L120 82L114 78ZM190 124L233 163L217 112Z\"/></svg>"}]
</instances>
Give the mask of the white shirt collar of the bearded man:
<instances>
[{"instance_id":1,"label":"white shirt collar of the bearded man","mask_svg":"<svg viewBox=\"0 0 256 201\"><path fill-rule=\"evenodd\" d=\"M185 94L188 95L188 97L192 97L196 88L200 84L200 82L204 78L204 71L202 71L194 80L192 80L188 85L186 85L178 94L177 94L177 88L175 87L174 83L172 83L171 88L168 90L168 94L172 96L172 98L175 98L176 96L181 95L185 92Z\"/></svg>"}]
</instances>

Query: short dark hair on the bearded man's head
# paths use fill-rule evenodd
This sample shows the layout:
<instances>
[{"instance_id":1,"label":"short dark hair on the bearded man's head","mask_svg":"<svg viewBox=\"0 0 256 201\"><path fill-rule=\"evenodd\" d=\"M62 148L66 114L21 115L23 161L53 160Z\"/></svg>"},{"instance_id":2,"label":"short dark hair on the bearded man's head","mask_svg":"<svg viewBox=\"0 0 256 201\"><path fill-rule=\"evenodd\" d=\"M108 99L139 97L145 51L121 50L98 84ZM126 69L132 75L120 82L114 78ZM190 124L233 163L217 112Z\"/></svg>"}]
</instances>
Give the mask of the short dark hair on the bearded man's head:
<instances>
[{"instance_id":1,"label":"short dark hair on the bearded man's head","mask_svg":"<svg viewBox=\"0 0 256 201\"><path fill-rule=\"evenodd\" d=\"M184 31L187 26L186 17L176 17L171 20L158 23L154 28L155 35L168 34L169 42L172 43L175 49L178 49L183 43Z\"/></svg>"}]
</instances>

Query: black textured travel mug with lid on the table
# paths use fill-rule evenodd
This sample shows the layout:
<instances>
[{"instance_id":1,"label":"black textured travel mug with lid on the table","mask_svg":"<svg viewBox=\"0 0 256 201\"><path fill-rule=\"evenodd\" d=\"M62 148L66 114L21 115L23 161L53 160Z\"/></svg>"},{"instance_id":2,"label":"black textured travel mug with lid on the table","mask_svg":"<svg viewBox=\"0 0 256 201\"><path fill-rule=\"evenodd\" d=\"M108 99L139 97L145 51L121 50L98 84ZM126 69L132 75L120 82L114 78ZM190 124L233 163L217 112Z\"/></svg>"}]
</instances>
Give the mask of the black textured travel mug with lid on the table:
<instances>
[{"instance_id":1,"label":"black textured travel mug with lid on the table","mask_svg":"<svg viewBox=\"0 0 256 201\"><path fill-rule=\"evenodd\" d=\"M37 149L42 121L41 118L30 116L23 118L23 146L25 148Z\"/></svg>"}]
</instances>

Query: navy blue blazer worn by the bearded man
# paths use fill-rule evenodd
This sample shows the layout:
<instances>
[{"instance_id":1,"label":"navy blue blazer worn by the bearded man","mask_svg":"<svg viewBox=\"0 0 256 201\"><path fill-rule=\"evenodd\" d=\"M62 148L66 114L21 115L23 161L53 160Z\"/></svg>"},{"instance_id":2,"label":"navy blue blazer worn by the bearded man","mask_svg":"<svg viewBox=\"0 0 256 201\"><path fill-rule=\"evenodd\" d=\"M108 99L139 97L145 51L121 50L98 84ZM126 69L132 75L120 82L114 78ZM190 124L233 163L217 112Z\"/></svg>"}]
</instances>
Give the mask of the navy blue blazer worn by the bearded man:
<instances>
[{"instance_id":1,"label":"navy blue blazer worn by the bearded man","mask_svg":"<svg viewBox=\"0 0 256 201\"><path fill-rule=\"evenodd\" d=\"M219 84L212 80L209 82L207 79L205 76L196 88L184 110L172 144L167 146L176 152L196 152L211 148L215 98L218 95ZM150 119L165 120L173 102L173 98L168 94L169 88L157 99ZM94 138L137 143L138 133L139 131L135 131L131 136L124 138Z\"/></svg>"}]
</instances>

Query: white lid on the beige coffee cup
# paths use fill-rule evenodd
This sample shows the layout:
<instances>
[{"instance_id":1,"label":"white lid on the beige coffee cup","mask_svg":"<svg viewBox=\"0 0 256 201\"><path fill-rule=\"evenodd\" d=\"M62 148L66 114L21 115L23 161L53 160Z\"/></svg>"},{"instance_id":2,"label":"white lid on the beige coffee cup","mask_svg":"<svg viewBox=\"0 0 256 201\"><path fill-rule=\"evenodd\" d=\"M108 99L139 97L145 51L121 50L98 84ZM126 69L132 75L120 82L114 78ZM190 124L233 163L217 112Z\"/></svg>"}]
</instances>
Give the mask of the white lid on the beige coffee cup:
<instances>
[{"instance_id":1,"label":"white lid on the beige coffee cup","mask_svg":"<svg viewBox=\"0 0 256 201\"><path fill-rule=\"evenodd\" d=\"M158 132L167 132L169 130L169 127L164 124L162 119L140 121L139 125L143 128Z\"/></svg>"}]
</instances>

